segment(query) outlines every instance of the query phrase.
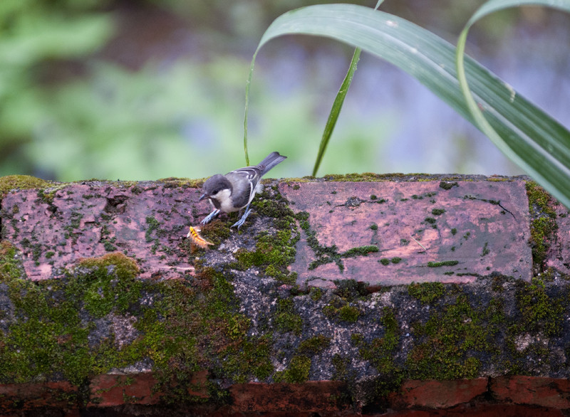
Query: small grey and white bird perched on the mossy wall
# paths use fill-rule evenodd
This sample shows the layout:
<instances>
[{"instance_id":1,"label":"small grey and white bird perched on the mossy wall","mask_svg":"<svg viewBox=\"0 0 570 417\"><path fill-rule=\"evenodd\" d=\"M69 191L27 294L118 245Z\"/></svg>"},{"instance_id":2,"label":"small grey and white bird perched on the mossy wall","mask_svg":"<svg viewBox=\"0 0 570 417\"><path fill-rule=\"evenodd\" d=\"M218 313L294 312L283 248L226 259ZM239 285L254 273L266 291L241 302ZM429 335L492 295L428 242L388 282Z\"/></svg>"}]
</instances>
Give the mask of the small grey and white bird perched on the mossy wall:
<instances>
[{"instance_id":1,"label":"small grey and white bird perched on the mossy wall","mask_svg":"<svg viewBox=\"0 0 570 417\"><path fill-rule=\"evenodd\" d=\"M198 201L209 199L214 211L209 213L201 223L209 223L220 211L232 213L232 211L239 211L245 207L242 218L232 225L232 227L237 226L239 229L252 211L249 209L249 204L251 204L255 194L263 191L263 186L259 184L261 176L264 176L276 164L283 162L284 159L286 157L280 155L279 152L271 152L259 165L239 168L225 175L210 176L202 186L204 194L200 196Z\"/></svg>"}]
</instances>

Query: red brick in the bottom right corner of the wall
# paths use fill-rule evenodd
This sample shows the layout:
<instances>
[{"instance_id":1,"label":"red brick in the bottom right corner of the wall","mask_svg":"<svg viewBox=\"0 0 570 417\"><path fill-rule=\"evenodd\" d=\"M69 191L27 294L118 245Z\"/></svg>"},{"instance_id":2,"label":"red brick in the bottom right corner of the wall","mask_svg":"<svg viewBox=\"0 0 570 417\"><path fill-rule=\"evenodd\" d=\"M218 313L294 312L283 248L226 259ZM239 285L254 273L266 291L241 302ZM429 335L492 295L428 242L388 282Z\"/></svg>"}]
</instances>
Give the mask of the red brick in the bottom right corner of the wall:
<instances>
[{"instance_id":1,"label":"red brick in the bottom right corner of the wall","mask_svg":"<svg viewBox=\"0 0 570 417\"><path fill-rule=\"evenodd\" d=\"M570 408L570 381L537 376L501 376L491 381L497 401Z\"/></svg>"}]
</instances>

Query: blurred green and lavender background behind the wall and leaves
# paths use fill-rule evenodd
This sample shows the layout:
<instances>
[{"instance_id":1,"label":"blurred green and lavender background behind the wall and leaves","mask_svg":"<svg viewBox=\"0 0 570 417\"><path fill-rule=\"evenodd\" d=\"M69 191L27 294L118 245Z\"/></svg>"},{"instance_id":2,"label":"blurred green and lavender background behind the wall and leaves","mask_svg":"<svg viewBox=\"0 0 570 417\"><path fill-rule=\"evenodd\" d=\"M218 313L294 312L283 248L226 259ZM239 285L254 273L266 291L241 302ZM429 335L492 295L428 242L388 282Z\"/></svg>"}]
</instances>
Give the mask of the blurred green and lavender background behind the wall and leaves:
<instances>
[{"instance_id":1,"label":"blurred green and lavender background behind the wall and leaves","mask_svg":"<svg viewBox=\"0 0 570 417\"><path fill-rule=\"evenodd\" d=\"M331 2L1 0L0 176L152 180L242 167L259 39L284 12ZM480 4L386 0L380 9L455 44ZM569 45L569 16L527 7L477 23L467 51L569 127ZM269 176L311 174L352 52L309 36L261 49L253 164L278 150L289 159ZM423 85L366 53L318 175L364 171L522 173Z\"/></svg>"}]
</instances>

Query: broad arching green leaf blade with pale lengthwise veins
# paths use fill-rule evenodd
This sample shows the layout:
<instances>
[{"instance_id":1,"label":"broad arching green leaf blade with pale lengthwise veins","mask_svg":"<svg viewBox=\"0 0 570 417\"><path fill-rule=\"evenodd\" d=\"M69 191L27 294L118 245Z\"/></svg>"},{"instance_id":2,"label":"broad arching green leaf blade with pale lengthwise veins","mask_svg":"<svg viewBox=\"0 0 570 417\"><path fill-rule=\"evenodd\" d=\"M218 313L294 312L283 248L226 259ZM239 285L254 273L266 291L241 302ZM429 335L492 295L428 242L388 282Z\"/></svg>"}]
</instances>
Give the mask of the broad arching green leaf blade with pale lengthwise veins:
<instances>
[{"instance_id":1,"label":"broad arching green leaf blade with pale lengthwise veins","mask_svg":"<svg viewBox=\"0 0 570 417\"><path fill-rule=\"evenodd\" d=\"M470 22L504 8L504 4L537 3L562 10L570 7L570 0L491 0ZM414 23L352 4L308 6L271 23L256 55L271 39L291 34L333 38L383 58L482 129L481 120L475 120L477 112L470 109L473 103L467 105L457 80L455 47ZM497 147L570 207L570 132L475 60L465 57L463 65L475 107L484 110L483 119L498 133L491 137Z\"/></svg>"}]
</instances>

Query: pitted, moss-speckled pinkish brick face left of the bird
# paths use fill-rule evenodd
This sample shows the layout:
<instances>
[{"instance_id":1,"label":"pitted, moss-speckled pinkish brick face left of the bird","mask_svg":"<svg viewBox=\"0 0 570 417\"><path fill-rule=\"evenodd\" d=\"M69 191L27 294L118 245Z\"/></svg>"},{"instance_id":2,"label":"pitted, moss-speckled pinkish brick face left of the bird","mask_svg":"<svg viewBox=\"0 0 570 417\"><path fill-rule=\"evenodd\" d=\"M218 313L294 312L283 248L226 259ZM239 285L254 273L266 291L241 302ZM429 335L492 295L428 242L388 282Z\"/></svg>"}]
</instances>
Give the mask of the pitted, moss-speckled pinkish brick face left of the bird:
<instances>
[{"instance_id":1,"label":"pitted, moss-speckled pinkish brick face left of the bird","mask_svg":"<svg viewBox=\"0 0 570 417\"><path fill-rule=\"evenodd\" d=\"M81 258L115 250L137 259L143 278L180 278L194 271L180 238L209 210L198 198L198 189L154 183L70 184L53 199L21 190L1 201L10 217L1 233L24 253L31 280L57 278Z\"/></svg>"}]
</instances>

